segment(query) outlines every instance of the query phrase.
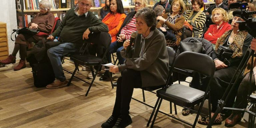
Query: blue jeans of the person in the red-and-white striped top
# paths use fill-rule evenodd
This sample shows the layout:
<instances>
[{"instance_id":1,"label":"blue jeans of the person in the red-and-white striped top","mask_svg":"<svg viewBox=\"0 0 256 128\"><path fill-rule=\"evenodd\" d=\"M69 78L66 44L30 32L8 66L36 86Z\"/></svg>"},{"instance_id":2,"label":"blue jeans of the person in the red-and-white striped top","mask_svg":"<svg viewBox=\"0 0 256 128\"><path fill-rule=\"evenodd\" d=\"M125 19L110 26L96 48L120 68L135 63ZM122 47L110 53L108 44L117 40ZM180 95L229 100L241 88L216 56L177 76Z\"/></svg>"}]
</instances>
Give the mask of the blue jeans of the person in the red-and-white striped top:
<instances>
[{"instance_id":1,"label":"blue jeans of the person in the red-and-white striped top","mask_svg":"<svg viewBox=\"0 0 256 128\"><path fill-rule=\"evenodd\" d=\"M110 46L109 46L109 49L108 49L109 54L107 54L108 62L109 62L109 63L112 62L112 61L111 61L111 54L116 52L116 54L117 54L117 59L118 59L118 61L119 61L119 64L120 64L120 65L121 65L121 64L124 64L124 60L125 60L125 59L124 59L124 58L121 56L121 54L120 54L120 51L121 51L122 49L123 49L123 43L122 43L122 42L117 42L117 41L115 41L115 42L111 43Z\"/></svg>"}]
</instances>

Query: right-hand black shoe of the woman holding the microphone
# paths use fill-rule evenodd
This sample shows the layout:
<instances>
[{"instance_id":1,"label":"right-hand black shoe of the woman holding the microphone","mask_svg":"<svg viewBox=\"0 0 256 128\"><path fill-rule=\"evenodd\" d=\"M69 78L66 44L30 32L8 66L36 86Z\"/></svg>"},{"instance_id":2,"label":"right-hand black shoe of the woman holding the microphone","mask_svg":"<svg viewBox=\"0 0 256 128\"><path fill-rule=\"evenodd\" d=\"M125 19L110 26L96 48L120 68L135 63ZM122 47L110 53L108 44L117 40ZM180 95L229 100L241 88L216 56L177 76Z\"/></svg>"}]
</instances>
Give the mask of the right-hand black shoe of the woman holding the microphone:
<instances>
[{"instance_id":1,"label":"right-hand black shoe of the woman holding the microphone","mask_svg":"<svg viewBox=\"0 0 256 128\"><path fill-rule=\"evenodd\" d=\"M125 128L131 123L132 123L132 118L130 117L130 115L119 116L113 128Z\"/></svg>"}]
</instances>

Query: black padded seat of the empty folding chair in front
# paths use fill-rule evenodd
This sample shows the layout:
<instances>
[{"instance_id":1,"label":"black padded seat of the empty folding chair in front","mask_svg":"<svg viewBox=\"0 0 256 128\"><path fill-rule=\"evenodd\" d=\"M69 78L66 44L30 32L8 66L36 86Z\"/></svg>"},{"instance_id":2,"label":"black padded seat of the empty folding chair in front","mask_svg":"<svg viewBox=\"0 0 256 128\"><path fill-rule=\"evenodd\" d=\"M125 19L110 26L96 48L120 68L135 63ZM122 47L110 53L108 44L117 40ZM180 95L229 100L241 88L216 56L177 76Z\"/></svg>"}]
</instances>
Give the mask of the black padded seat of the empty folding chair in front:
<instances>
[{"instance_id":1,"label":"black padded seat of the empty folding chair in front","mask_svg":"<svg viewBox=\"0 0 256 128\"><path fill-rule=\"evenodd\" d=\"M204 92L182 84L173 84L168 88L157 90L156 96L165 100L171 99L179 106L191 107L202 101Z\"/></svg>"}]
</instances>

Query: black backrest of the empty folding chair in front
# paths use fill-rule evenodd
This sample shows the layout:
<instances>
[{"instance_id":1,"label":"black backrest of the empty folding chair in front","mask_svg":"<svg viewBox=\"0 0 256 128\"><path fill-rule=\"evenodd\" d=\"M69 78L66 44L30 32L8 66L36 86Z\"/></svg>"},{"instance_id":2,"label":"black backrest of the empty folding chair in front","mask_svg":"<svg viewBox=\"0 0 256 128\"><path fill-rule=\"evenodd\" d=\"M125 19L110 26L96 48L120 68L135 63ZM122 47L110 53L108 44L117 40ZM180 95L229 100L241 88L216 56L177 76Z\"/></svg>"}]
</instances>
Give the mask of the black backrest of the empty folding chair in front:
<instances>
[{"instance_id":1,"label":"black backrest of the empty folding chair in front","mask_svg":"<svg viewBox=\"0 0 256 128\"><path fill-rule=\"evenodd\" d=\"M209 77L212 77L215 72L215 64L212 58L195 52L182 52L175 59L173 66L193 70Z\"/></svg>"}]
</instances>

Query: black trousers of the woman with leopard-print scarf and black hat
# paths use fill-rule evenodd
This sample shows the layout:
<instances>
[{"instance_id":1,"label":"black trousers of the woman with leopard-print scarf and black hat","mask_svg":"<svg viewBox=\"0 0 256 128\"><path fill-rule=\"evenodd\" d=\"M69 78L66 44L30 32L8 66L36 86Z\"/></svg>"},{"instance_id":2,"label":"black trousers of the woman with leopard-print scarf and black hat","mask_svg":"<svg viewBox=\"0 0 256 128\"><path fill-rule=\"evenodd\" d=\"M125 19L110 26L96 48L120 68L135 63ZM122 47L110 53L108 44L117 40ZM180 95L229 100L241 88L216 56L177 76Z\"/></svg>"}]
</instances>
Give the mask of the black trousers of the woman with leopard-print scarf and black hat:
<instances>
[{"instance_id":1,"label":"black trousers of the woman with leopard-print scarf and black hat","mask_svg":"<svg viewBox=\"0 0 256 128\"><path fill-rule=\"evenodd\" d=\"M211 104L212 104L212 112L217 110L218 100L220 100L226 91L229 82L231 81L233 75L235 74L237 66L232 66L224 69L220 69L215 71L214 77L210 83L210 97L211 97ZM238 89L238 85L236 86L234 91L232 92L231 96L226 105L226 107L230 106L234 102L234 98Z\"/></svg>"}]
</instances>

